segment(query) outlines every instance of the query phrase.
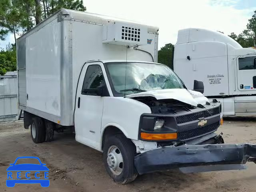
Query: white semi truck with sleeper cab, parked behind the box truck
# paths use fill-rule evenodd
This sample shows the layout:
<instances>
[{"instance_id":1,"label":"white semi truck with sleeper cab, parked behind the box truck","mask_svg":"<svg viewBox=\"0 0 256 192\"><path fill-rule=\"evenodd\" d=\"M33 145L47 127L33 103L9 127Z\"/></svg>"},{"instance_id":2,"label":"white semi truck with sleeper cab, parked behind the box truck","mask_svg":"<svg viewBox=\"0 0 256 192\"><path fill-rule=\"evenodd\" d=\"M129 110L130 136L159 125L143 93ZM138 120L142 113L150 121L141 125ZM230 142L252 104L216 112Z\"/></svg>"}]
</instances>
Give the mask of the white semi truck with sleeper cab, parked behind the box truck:
<instances>
[{"instance_id":1,"label":"white semi truck with sleeper cab, parked behind the box truck","mask_svg":"<svg viewBox=\"0 0 256 192\"><path fill-rule=\"evenodd\" d=\"M224 116L256 116L256 50L220 32L179 30L174 71L188 89L204 82L204 96L222 103Z\"/></svg>"}]
</instances>

